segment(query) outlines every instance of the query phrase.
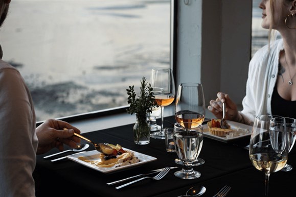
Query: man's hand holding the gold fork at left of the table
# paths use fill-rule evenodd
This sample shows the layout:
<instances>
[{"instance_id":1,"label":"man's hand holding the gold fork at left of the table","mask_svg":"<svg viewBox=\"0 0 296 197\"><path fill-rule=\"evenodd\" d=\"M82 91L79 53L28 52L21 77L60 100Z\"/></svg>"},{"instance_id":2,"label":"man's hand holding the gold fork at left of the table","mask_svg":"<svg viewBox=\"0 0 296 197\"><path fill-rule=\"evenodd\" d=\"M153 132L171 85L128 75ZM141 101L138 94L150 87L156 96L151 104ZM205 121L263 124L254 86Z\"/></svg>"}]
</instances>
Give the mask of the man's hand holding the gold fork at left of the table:
<instances>
[{"instance_id":1,"label":"man's hand holding the gold fork at left of the table","mask_svg":"<svg viewBox=\"0 0 296 197\"><path fill-rule=\"evenodd\" d=\"M67 128L67 130L63 130L63 128ZM69 145L74 149L77 143L80 143L80 138L75 137L74 132L80 134L79 129L65 121L55 119L46 120L36 128L38 138L37 155L46 153L54 147L63 151L63 144Z\"/></svg>"}]
</instances>

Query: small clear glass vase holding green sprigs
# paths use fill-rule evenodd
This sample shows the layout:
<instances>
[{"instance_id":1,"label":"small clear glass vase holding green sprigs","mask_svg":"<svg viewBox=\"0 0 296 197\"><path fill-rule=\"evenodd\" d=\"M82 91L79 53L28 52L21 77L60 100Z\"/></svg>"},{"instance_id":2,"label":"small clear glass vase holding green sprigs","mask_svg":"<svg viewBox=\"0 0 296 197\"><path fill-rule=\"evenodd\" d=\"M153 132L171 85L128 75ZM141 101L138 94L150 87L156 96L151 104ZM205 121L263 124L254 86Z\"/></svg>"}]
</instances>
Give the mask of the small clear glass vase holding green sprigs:
<instances>
[{"instance_id":1,"label":"small clear glass vase holding green sprigs","mask_svg":"<svg viewBox=\"0 0 296 197\"><path fill-rule=\"evenodd\" d=\"M146 119L146 116L136 116L136 122L132 129L135 144L145 145L150 142L150 128Z\"/></svg>"}]
</instances>

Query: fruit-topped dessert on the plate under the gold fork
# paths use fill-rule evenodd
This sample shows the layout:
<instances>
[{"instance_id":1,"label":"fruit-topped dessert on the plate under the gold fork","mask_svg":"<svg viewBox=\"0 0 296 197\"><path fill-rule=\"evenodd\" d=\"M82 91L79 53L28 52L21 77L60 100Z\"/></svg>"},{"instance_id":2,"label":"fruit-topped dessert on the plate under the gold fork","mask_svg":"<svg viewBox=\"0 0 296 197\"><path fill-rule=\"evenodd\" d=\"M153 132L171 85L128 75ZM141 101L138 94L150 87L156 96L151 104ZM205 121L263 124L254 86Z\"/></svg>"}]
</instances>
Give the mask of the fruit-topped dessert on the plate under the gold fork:
<instances>
[{"instance_id":1,"label":"fruit-topped dessert on the plate under the gold fork","mask_svg":"<svg viewBox=\"0 0 296 197\"><path fill-rule=\"evenodd\" d=\"M132 163L138 163L140 160L135 157L134 153L132 151L123 150L121 145L113 145L108 144L112 147L113 153L112 154L100 154L99 160L88 160L85 157L78 157L78 159L90 163L92 165L98 166L98 167L120 167L124 165L129 165Z\"/></svg>"}]
</instances>

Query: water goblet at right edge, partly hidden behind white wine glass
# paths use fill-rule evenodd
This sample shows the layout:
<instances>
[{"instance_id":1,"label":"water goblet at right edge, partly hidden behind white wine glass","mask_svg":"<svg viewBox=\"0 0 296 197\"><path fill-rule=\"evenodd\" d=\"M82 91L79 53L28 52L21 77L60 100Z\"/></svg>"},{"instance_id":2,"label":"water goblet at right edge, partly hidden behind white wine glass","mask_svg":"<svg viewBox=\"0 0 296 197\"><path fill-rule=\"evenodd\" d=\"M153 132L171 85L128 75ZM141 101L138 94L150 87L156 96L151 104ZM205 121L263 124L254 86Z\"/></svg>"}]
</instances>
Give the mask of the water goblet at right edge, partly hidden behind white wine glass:
<instances>
[{"instance_id":1,"label":"water goblet at right edge, partly hidden behind white wine glass","mask_svg":"<svg viewBox=\"0 0 296 197\"><path fill-rule=\"evenodd\" d=\"M295 143L295 135L296 135L296 119L294 118L289 118L289 117L285 117L285 121L286 121L286 131L287 131L287 135L288 135L288 139L289 139L289 152L292 150L292 147ZM292 170L292 166L287 164L283 167L282 171L290 171Z\"/></svg>"}]
</instances>

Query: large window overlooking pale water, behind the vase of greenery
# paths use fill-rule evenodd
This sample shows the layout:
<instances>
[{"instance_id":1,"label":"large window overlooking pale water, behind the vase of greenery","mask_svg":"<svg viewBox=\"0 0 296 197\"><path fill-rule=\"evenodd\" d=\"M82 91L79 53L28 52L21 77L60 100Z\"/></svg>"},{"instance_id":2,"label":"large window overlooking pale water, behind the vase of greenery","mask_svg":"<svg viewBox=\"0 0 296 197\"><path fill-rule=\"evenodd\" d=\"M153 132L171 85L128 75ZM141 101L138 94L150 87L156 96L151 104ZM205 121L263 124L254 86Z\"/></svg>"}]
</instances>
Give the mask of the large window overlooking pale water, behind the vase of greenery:
<instances>
[{"instance_id":1,"label":"large window overlooking pale water, behind the vase of greenery","mask_svg":"<svg viewBox=\"0 0 296 197\"><path fill-rule=\"evenodd\" d=\"M126 106L129 85L170 65L170 4L12 1L3 60L24 77L37 121Z\"/></svg>"}]
</instances>

